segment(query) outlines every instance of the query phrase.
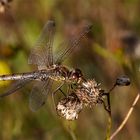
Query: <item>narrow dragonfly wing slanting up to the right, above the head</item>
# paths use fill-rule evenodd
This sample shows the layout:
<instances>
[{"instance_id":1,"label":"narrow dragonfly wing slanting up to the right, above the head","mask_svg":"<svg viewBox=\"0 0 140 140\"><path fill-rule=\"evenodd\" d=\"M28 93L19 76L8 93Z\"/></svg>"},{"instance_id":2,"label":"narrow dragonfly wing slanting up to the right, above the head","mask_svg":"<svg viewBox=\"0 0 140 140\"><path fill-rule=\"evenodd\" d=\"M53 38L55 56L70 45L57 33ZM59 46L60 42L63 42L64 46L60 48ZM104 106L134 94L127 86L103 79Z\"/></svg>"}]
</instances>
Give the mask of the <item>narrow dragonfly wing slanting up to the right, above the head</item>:
<instances>
[{"instance_id":1,"label":"narrow dragonfly wing slanting up to the right, above the head","mask_svg":"<svg viewBox=\"0 0 140 140\"><path fill-rule=\"evenodd\" d=\"M65 49L62 51L62 53L56 59L57 64L59 64L63 60L65 60L66 57L68 57L74 51L74 49L76 49L76 47L79 46L80 41L83 39L83 37L86 36L86 34L91 30L91 28L92 28L92 25L88 25L88 26L84 27L83 31L77 38L75 37L75 38L69 40L67 43L64 42L63 44L61 44L61 47L65 48Z\"/></svg>"}]
</instances>

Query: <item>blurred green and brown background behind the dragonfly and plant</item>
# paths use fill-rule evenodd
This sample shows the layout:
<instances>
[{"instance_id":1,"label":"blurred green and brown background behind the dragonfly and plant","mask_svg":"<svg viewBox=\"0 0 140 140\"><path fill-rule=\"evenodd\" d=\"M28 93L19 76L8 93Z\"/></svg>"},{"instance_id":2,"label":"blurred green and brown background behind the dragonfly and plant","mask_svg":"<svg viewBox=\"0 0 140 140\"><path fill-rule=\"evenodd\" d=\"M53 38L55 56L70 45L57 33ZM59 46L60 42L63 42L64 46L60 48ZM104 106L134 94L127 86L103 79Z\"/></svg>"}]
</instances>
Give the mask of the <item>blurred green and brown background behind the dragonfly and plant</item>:
<instances>
[{"instance_id":1,"label":"blurred green and brown background behind the dragonfly and plant","mask_svg":"<svg viewBox=\"0 0 140 140\"><path fill-rule=\"evenodd\" d=\"M47 20L56 22L55 49L83 25L93 24L88 39L64 62L82 69L85 77L108 90L120 75L131 78L129 87L112 92L112 132L122 122L140 92L140 1L139 0L13 0L0 13L0 74L31 71L27 60ZM58 48L60 47L60 48ZM0 82L3 93L10 82ZM0 100L1 140L101 140L108 115L103 106L85 108L74 122L56 115L51 98L39 111L28 107L31 86ZM116 140L140 139L140 105Z\"/></svg>"}]
</instances>

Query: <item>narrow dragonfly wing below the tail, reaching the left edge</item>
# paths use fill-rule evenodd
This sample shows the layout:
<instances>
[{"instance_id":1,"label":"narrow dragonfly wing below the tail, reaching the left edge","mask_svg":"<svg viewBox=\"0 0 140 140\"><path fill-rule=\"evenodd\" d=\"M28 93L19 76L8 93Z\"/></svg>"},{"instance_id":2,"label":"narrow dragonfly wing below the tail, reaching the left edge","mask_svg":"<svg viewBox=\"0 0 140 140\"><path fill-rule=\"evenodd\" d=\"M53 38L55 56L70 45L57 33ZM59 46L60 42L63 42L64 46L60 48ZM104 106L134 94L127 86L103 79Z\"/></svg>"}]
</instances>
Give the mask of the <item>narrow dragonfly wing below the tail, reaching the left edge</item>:
<instances>
[{"instance_id":1,"label":"narrow dragonfly wing below the tail, reaching the left edge","mask_svg":"<svg viewBox=\"0 0 140 140\"><path fill-rule=\"evenodd\" d=\"M5 93L0 94L0 98L8 96L8 95L16 92L17 90L19 90L20 88L25 86L25 84L29 83L30 81L31 80L29 80L29 79L24 79L24 80L16 81L15 83L13 83L11 85L11 87Z\"/></svg>"}]
</instances>

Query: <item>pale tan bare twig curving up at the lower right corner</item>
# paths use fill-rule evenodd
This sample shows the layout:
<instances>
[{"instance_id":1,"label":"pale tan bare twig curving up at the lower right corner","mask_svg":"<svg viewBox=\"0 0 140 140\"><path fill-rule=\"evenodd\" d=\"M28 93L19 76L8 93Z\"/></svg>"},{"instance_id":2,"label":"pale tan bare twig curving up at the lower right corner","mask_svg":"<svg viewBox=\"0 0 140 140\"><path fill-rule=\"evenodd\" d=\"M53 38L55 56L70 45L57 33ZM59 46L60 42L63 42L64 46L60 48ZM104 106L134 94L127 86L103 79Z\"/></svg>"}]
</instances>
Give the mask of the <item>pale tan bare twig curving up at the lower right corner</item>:
<instances>
[{"instance_id":1,"label":"pale tan bare twig curving up at the lower right corner","mask_svg":"<svg viewBox=\"0 0 140 140\"><path fill-rule=\"evenodd\" d=\"M120 124L120 126L117 128L117 130L111 135L110 140L112 140L121 131L121 129L124 127L124 125L126 124L128 118L132 114L132 111L134 110L134 107L135 107L136 103L138 102L139 98L140 98L140 94L138 93L138 95L136 96L131 108L129 109L129 111L128 111L127 115L126 115L126 117L124 118L124 120Z\"/></svg>"}]
</instances>

